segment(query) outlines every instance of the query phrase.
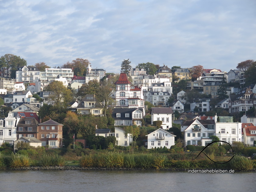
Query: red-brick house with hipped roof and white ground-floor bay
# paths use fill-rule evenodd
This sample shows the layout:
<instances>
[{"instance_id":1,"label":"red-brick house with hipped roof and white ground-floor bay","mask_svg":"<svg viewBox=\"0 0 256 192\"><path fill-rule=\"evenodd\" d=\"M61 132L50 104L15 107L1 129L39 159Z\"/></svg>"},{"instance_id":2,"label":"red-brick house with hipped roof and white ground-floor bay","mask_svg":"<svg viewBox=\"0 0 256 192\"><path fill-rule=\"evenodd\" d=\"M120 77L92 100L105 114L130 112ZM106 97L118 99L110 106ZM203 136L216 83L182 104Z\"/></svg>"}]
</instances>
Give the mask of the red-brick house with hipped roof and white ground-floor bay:
<instances>
[{"instance_id":1,"label":"red-brick house with hipped roof and white ground-floor bay","mask_svg":"<svg viewBox=\"0 0 256 192\"><path fill-rule=\"evenodd\" d=\"M62 148L63 125L52 119L38 124L38 136L42 146L49 145L50 148Z\"/></svg>"}]
</instances>

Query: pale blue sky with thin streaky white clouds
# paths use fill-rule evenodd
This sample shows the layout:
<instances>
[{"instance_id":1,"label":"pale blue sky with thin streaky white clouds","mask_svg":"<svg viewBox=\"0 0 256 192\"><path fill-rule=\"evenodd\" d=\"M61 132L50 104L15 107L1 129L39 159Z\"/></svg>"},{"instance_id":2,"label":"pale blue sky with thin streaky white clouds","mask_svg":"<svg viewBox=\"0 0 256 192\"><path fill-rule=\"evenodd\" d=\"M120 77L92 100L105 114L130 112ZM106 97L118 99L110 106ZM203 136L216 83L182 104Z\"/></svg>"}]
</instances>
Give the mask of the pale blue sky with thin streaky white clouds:
<instances>
[{"instance_id":1,"label":"pale blue sky with thin streaky white clouds","mask_svg":"<svg viewBox=\"0 0 256 192\"><path fill-rule=\"evenodd\" d=\"M256 60L254 0L0 0L0 56L58 67L76 58L228 72Z\"/></svg>"}]
</instances>

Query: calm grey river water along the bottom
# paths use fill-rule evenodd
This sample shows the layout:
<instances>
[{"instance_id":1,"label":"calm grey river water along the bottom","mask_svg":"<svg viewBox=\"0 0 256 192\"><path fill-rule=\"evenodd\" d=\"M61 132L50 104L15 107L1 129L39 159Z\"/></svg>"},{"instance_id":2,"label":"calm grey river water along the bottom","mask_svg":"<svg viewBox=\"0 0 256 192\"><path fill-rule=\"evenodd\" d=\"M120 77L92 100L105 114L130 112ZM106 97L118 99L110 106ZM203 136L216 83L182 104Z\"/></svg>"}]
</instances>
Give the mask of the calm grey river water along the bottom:
<instances>
[{"instance_id":1,"label":"calm grey river water along the bottom","mask_svg":"<svg viewBox=\"0 0 256 192\"><path fill-rule=\"evenodd\" d=\"M256 191L255 172L0 171L0 191Z\"/></svg>"}]
</instances>

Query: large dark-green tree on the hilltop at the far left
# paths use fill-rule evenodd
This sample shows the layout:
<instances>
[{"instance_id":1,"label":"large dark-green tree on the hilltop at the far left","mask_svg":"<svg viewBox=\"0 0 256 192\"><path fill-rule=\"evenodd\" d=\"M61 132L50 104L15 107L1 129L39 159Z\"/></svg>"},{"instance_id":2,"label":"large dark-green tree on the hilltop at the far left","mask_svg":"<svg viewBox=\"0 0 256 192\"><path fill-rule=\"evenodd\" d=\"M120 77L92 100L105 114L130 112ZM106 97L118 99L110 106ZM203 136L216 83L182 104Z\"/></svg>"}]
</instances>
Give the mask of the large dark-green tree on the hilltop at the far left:
<instances>
[{"instance_id":1,"label":"large dark-green tree on the hilltop at the far left","mask_svg":"<svg viewBox=\"0 0 256 192\"><path fill-rule=\"evenodd\" d=\"M27 61L25 59L21 59L20 56L5 54L0 58L0 68L2 71L7 70L7 77L15 78L18 66L24 65L27 65ZM2 77L4 77L4 73L2 73Z\"/></svg>"}]
</instances>

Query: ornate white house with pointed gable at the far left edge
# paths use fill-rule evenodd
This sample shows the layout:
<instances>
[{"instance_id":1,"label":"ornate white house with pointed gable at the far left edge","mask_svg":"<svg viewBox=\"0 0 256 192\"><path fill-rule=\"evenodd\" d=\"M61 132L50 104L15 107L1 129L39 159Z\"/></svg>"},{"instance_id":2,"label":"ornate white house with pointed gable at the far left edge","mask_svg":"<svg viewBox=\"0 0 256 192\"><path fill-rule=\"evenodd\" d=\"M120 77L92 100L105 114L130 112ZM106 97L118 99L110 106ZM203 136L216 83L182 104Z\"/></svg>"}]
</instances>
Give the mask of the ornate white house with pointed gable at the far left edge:
<instances>
[{"instance_id":1,"label":"ornate white house with pointed gable at the far left edge","mask_svg":"<svg viewBox=\"0 0 256 192\"><path fill-rule=\"evenodd\" d=\"M15 122L16 119L10 111L4 120L0 120L0 145L2 143L14 144L14 141L17 139Z\"/></svg>"}]
</instances>

